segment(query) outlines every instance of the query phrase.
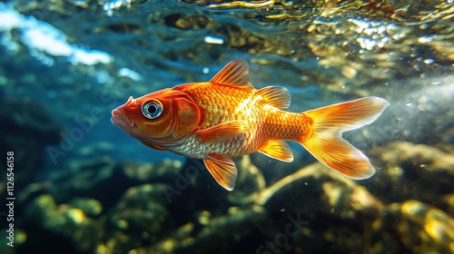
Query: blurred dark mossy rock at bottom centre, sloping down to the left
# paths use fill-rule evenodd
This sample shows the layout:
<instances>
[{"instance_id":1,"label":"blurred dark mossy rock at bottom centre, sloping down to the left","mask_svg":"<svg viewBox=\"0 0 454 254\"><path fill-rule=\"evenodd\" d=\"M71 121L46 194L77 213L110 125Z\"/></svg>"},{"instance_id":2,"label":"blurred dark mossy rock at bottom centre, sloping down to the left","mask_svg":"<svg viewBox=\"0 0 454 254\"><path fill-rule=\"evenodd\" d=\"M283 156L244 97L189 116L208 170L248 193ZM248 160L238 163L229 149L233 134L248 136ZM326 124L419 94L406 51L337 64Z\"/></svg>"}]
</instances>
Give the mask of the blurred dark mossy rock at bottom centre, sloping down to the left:
<instances>
[{"instance_id":1,"label":"blurred dark mossy rock at bottom centre, sloping down to the left","mask_svg":"<svg viewBox=\"0 0 454 254\"><path fill-rule=\"evenodd\" d=\"M253 253L257 235L266 221L267 213L261 207L247 209L232 207L222 216L207 216L201 213L199 223L188 223L175 230L170 238L149 248L134 249L135 253ZM239 241L244 241L243 247ZM247 247L247 249L244 249ZM252 249L251 249L252 247Z\"/></svg>"}]
</instances>

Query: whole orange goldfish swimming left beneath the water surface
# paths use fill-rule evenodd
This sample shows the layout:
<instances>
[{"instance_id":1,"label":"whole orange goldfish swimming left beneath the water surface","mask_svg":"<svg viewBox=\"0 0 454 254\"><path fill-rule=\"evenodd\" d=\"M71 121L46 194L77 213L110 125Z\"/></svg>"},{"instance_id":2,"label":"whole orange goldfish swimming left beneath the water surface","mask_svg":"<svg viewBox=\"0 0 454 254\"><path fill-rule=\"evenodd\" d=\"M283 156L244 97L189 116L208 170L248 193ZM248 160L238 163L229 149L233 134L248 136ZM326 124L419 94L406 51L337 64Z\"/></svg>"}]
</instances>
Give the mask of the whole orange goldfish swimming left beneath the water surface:
<instances>
[{"instance_id":1,"label":"whole orange goldfish swimming left beneath the water surface","mask_svg":"<svg viewBox=\"0 0 454 254\"><path fill-rule=\"evenodd\" d=\"M282 86L255 89L245 60L226 64L212 80L183 83L128 101L112 111L112 122L144 145L202 159L224 189L233 190L232 158L259 151L291 162L286 141L298 142L334 171L354 180L375 169L342 132L374 122L389 105L364 97L306 112L284 111L291 94Z\"/></svg>"}]
</instances>

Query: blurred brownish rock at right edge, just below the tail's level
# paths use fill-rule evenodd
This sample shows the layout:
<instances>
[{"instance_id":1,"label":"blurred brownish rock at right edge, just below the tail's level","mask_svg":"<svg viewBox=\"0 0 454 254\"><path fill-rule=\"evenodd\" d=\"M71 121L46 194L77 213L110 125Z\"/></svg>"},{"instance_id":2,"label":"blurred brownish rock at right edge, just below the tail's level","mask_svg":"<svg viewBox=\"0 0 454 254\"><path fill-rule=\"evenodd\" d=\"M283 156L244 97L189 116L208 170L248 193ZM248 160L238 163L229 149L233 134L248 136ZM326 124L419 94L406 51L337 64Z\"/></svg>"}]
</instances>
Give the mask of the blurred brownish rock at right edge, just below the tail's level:
<instances>
[{"instance_id":1,"label":"blurred brownish rock at right edge, just below the tail's level","mask_svg":"<svg viewBox=\"0 0 454 254\"><path fill-rule=\"evenodd\" d=\"M365 182L370 192L385 203L419 200L440 205L445 195L453 193L451 153L410 142L391 142L373 153L383 161L384 168L377 171L374 178L378 180Z\"/></svg>"}]
</instances>

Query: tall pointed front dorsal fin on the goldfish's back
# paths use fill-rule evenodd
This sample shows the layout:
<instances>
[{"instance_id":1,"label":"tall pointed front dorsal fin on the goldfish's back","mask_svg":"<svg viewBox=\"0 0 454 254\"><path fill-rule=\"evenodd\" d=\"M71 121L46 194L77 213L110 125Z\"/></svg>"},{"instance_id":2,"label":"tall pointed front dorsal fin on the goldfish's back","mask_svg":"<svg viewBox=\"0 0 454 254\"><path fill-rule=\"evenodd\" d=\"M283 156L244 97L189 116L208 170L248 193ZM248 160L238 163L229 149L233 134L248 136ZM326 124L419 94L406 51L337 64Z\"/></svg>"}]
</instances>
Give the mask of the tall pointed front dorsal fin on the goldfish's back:
<instances>
[{"instance_id":1,"label":"tall pointed front dorsal fin on the goldfish's back","mask_svg":"<svg viewBox=\"0 0 454 254\"><path fill-rule=\"evenodd\" d=\"M225 65L219 73L212 77L211 83L219 83L242 88L253 89L249 83L249 67L246 60L238 58Z\"/></svg>"}]
</instances>

